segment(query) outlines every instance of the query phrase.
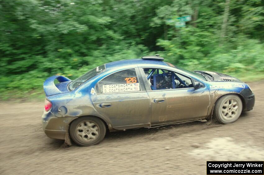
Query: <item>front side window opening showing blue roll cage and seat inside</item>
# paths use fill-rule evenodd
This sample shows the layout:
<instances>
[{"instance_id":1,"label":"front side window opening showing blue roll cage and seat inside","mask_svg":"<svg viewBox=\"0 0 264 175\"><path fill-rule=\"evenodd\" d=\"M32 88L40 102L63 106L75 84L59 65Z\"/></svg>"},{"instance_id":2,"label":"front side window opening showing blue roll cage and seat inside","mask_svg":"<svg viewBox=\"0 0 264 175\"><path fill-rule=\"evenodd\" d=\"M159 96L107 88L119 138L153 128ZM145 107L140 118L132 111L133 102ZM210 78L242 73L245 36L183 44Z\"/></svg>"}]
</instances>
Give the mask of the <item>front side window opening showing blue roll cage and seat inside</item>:
<instances>
[{"instance_id":1,"label":"front side window opening showing blue roll cage and seat inside","mask_svg":"<svg viewBox=\"0 0 264 175\"><path fill-rule=\"evenodd\" d=\"M165 69L144 68L151 90L179 89L193 87L192 80Z\"/></svg>"}]
</instances>

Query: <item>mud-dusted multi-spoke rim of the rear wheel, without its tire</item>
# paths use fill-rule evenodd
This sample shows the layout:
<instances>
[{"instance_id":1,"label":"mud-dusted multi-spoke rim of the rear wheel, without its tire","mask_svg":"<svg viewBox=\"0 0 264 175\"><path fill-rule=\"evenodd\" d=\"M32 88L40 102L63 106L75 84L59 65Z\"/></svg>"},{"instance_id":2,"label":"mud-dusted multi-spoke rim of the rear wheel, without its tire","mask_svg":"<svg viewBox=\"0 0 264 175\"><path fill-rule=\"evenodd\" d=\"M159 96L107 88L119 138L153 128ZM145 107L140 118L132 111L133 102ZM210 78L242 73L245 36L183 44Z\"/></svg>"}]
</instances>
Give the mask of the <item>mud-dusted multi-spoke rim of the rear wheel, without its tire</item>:
<instances>
[{"instance_id":1,"label":"mud-dusted multi-spoke rim of the rear wheel, without its tire","mask_svg":"<svg viewBox=\"0 0 264 175\"><path fill-rule=\"evenodd\" d=\"M76 127L76 135L83 142L92 142L99 136L99 127L93 121L82 121Z\"/></svg>"}]
</instances>

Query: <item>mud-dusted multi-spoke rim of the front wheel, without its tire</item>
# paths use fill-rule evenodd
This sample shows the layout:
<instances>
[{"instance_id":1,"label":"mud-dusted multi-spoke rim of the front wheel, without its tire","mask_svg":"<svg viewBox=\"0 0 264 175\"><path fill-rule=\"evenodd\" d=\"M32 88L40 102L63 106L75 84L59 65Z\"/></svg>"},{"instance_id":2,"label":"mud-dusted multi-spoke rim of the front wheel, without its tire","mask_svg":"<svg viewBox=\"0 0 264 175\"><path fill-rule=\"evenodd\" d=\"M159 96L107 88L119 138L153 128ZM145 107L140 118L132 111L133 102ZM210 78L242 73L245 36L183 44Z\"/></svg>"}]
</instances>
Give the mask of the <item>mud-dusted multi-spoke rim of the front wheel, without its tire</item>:
<instances>
[{"instance_id":1,"label":"mud-dusted multi-spoke rim of the front wheel, without its tire","mask_svg":"<svg viewBox=\"0 0 264 175\"><path fill-rule=\"evenodd\" d=\"M233 120L239 115L239 102L235 98L229 98L223 103L221 110L225 120Z\"/></svg>"}]
</instances>

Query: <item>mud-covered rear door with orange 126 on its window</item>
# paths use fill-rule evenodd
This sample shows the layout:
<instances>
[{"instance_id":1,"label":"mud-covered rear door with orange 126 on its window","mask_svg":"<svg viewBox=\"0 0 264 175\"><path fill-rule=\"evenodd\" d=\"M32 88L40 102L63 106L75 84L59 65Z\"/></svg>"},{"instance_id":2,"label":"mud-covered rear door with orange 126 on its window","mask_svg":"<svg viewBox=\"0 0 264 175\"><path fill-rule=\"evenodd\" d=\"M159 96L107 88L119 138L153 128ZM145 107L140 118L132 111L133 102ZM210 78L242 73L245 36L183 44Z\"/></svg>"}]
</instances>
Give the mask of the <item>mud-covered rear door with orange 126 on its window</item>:
<instances>
[{"instance_id":1,"label":"mud-covered rear door with orange 126 on its window","mask_svg":"<svg viewBox=\"0 0 264 175\"><path fill-rule=\"evenodd\" d=\"M109 118L115 129L150 126L150 99L137 71L125 69L103 78L95 86L96 94L91 95L96 110Z\"/></svg>"}]
</instances>

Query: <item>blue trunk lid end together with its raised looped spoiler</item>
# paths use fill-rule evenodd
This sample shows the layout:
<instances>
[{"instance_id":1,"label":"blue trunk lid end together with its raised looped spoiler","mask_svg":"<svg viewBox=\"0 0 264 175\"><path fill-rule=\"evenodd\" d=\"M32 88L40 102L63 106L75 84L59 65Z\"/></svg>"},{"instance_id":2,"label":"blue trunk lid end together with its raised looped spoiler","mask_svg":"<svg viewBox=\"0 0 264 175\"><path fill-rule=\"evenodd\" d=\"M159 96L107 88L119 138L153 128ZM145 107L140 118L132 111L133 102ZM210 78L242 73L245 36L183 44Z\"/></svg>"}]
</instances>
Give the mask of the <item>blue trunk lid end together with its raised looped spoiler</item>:
<instances>
[{"instance_id":1,"label":"blue trunk lid end together with its raised looped spoiler","mask_svg":"<svg viewBox=\"0 0 264 175\"><path fill-rule=\"evenodd\" d=\"M56 79L59 81L59 83L55 85L54 80ZM52 77L47 78L47 80L44 81L43 89L45 91L46 96L66 93L66 92L69 92L67 86L70 82L71 80L67 77L52 76Z\"/></svg>"}]
</instances>

